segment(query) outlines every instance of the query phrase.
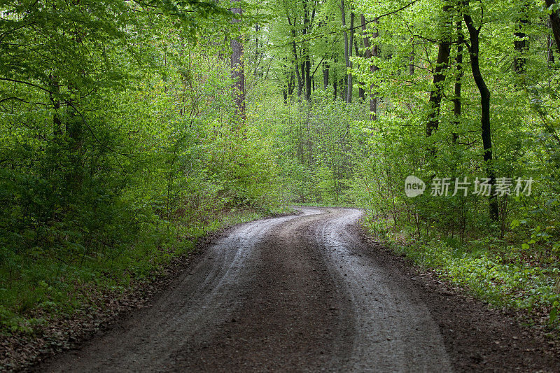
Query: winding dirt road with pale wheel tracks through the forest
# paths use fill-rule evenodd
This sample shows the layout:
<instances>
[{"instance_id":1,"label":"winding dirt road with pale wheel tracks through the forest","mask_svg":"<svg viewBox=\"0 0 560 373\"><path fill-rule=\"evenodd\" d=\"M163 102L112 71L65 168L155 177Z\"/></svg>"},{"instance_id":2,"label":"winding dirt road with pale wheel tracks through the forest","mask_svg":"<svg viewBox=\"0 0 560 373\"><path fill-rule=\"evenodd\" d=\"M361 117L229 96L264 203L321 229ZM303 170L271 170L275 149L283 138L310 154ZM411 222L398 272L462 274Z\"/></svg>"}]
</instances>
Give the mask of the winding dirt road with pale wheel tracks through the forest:
<instances>
[{"instance_id":1,"label":"winding dirt road with pale wheel tracks through the forest","mask_svg":"<svg viewBox=\"0 0 560 373\"><path fill-rule=\"evenodd\" d=\"M544 342L365 242L360 211L301 212L233 228L150 307L36 371L558 371Z\"/></svg>"}]
</instances>

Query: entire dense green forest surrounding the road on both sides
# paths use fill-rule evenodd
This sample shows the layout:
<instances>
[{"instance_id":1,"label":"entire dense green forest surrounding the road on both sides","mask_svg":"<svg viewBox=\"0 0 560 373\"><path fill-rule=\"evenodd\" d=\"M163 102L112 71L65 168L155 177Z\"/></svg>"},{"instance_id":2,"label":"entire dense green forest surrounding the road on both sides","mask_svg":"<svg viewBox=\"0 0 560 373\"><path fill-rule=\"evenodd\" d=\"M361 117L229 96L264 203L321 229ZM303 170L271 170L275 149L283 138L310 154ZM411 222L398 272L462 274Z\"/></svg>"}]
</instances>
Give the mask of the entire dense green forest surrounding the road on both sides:
<instances>
[{"instance_id":1,"label":"entire dense green forest surrounding the road on both sides","mask_svg":"<svg viewBox=\"0 0 560 373\"><path fill-rule=\"evenodd\" d=\"M556 325L559 52L554 0L3 1L3 332L306 203Z\"/></svg>"}]
</instances>

